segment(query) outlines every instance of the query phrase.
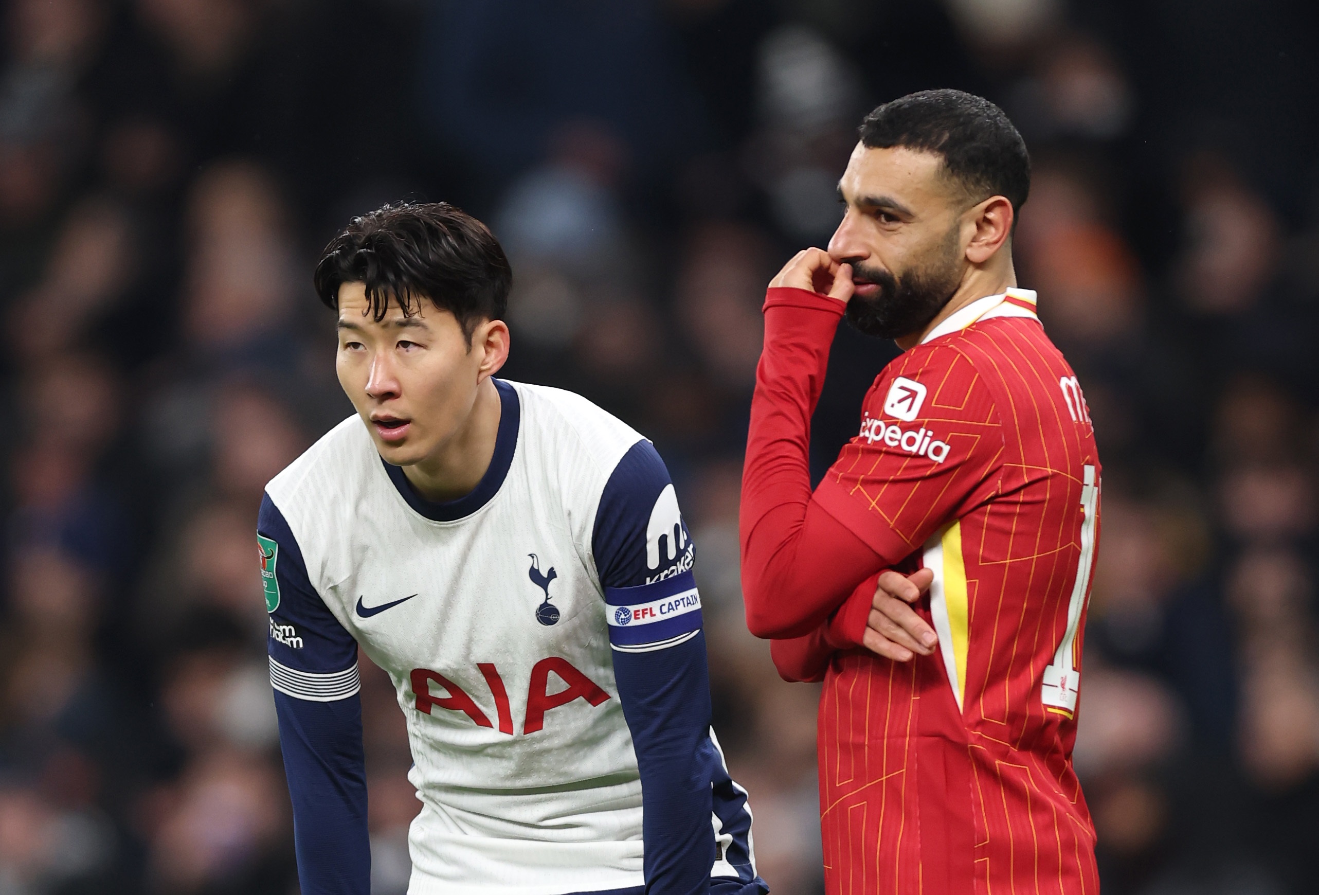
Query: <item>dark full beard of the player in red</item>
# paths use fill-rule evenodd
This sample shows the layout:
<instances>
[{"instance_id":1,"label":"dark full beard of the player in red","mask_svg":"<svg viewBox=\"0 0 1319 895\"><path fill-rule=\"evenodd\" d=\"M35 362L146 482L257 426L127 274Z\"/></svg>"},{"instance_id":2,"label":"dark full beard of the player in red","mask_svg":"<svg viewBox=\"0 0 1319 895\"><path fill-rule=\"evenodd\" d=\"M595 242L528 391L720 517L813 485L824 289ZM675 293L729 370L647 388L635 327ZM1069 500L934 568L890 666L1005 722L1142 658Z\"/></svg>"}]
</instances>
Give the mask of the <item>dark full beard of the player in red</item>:
<instances>
[{"instance_id":1,"label":"dark full beard of the player in red","mask_svg":"<svg viewBox=\"0 0 1319 895\"><path fill-rule=\"evenodd\" d=\"M939 257L894 276L892 271L852 263L852 279L878 286L874 296L852 296L847 322L859 333L880 339L900 339L923 330L952 298L962 282L955 260L958 231L948 232Z\"/></svg>"}]
</instances>

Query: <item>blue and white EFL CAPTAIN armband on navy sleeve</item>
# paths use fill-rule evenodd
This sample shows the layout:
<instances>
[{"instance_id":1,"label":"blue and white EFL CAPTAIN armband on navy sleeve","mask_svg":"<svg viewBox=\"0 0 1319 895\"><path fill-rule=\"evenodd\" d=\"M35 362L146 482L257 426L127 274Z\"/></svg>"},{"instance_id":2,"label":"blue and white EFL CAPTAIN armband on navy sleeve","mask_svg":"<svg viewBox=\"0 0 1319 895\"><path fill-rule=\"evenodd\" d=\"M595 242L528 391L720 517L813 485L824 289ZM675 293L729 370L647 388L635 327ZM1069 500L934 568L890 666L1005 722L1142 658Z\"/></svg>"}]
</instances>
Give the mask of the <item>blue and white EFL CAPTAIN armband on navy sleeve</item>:
<instances>
[{"instance_id":1,"label":"blue and white EFL CAPTAIN armband on navy sleeve","mask_svg":"<svg viewBox=\"0 0 1319 895\"><path fill-rule=\"evenodd\" d=\"M637 587L605 587L609 646L650 652L685 643L700 632L700 594L691 572Z\"/></svg>"}]
</instances>

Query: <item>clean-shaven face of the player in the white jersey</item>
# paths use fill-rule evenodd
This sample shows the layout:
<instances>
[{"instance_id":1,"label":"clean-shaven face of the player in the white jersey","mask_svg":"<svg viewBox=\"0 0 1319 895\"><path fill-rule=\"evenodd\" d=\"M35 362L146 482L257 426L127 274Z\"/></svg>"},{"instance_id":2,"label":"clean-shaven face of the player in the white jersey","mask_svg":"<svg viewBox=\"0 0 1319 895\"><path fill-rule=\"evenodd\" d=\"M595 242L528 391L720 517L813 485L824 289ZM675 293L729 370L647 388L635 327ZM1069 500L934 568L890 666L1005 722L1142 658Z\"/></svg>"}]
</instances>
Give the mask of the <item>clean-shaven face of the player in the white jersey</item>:
<instances>
[{"instance_id":1,"label":"clean-shaven face of the player in the white jersey","mask_svg":"<svg viewBox=\"0 0 1319 895\"><path fill-rule=\"evenodd\" d=\"M437 457L472 412L484 352L429 300L406 317L397 302L376 321L361 282L339 286L335 370L385 462L412 466Z\"/></svg>"}]
</instances>

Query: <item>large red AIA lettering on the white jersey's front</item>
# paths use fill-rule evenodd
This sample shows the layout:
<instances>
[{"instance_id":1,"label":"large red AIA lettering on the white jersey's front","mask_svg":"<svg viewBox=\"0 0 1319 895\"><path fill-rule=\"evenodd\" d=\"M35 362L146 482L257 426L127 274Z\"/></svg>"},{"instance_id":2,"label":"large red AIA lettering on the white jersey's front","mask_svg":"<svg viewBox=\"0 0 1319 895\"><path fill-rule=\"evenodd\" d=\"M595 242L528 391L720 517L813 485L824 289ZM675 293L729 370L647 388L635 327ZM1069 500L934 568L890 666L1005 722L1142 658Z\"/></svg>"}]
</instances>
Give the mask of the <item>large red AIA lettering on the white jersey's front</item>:
<instances>
[{"instance_id":1,"label":"large red AIA lettering on the white jersey's front","mask_svg":"<svg viewBox=\"0 0 1319 895\"><path fill-rule=\"evenodd\" d=\"M485 679L485 686L489 690L491 700L495 702L495 717L499 721L499 731L513 735L513 708L499 668L495 667L495 663L483 661L476 665L476 669ZM558 682L555 682L555 692L550 693L551 673L559 681L567 684L567 689L558 689ZM474 677L471 673L460 675L450 672L450 675L468 680ZM412 680L413 696L417 697L415 708L422 714L431 714L431 709L448 709L450 712L462 712L479 727L495 727L485 710L451 677L446 677L429 668L414 668L409 677ZM443 694L437 693L433 688L439 688L443 690ZM534 734L543 730L546 712L557 709L561 705L567 705L578 698L586 700L591 706L599 706L609 698L609 694L590 677L574 668L572 663L567 659L550 656L536 663L532 667L532 677L526 682L526 713L522 715L522 734Z\"/></svg>"}]
</instances>

